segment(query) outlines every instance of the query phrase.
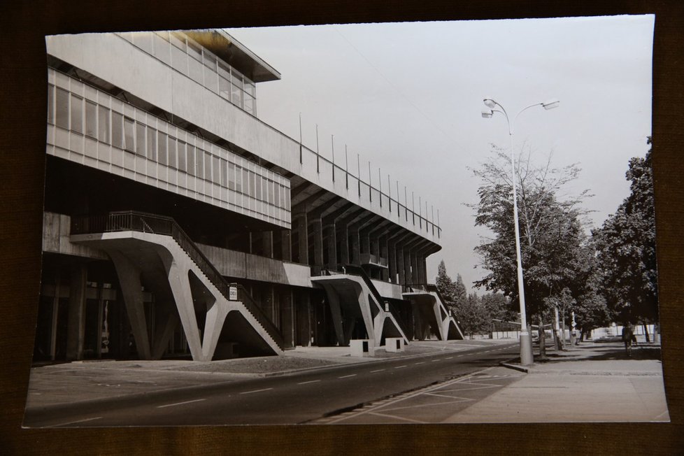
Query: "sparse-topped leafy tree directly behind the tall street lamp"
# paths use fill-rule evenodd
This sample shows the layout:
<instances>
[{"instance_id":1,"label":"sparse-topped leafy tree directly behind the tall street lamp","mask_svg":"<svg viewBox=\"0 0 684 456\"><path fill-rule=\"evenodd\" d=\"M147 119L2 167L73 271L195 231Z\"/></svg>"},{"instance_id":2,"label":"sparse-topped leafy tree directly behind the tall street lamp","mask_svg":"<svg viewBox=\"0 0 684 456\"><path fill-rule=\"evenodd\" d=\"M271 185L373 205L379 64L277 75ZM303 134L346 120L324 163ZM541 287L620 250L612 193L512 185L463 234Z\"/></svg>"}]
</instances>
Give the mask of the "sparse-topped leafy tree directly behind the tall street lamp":
<instances>
[{"instance_id":1,"label":"sparse-topped leafy tree directly behind the tall street lamp","mask_svg":"<svg viewBox=\"0 0 684 456\"><path fill-rule=\"evenodd\" d=\"M494 157L474 171L483 181L478 188L480 201L472 206L476 209L475 223L493 234L475 249L481 264L490 271L475 285L500 290L519 311L509 163L508 155L496 150ZM555 302L549 299L559 297L569 283L581 276L581 252L587 236L583 225L586 211L580 203L590 196L585 191L577 197L561 199L562 189L577 178L580 169L574 164L555 169L550 163L549 157L545 166L533 166L528 153L521 157L515 173L526 310L529 320L537 320L540 327L546 311Z\"/></svg>"}]
</instances>

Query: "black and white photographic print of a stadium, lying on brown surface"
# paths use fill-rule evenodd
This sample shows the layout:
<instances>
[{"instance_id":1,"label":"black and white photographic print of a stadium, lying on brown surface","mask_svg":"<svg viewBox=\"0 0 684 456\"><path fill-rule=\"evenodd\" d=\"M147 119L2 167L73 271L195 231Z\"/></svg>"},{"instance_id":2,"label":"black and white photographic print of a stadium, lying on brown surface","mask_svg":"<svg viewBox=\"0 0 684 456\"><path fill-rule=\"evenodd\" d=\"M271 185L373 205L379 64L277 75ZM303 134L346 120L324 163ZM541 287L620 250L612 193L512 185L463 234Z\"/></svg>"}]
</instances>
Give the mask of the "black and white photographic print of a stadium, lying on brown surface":
<instances>
[{"instance_id":1,"label":"black and white photographic print of a stadium, lying on brown surface","mask_svg":"<svg viewBox=\"0 0 684 456\"><path fill-rule=\"evenodd\" d=\"M669 422L654 25L45 36L22 426Z\"/></svg>"}]
</instances>

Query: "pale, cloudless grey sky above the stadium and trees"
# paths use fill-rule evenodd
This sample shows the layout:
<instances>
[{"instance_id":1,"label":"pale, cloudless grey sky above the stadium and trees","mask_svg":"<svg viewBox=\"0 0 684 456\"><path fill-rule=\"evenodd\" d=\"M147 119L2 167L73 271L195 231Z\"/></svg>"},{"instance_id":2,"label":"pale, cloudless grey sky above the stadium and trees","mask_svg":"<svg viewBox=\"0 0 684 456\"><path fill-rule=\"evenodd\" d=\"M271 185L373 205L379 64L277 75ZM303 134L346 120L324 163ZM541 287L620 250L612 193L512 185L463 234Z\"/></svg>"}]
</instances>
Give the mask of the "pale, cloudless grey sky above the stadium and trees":
<instances>
[{"instance_id":1,"label":"pale, cloudless grey sky above the stadium and trees","mask_svg":"<svg viewBox=\"0 0 684 456\"><path fill-rule=\"evenodd\" d=\"M473 251L487 229L466 204L478 201L473 175L492 145L508 149L503 115L482 117L483 99L515 121L514 149L555 167L582 171L565 192L588 189L590 227L598 227L629 194L625 171L643 157L651 131L653 15L556 19L332 24L227 29L278 70L282 79L257 84L257 117L343 164L378 180L378 167L406 187L411 206L439 211L442 250L427 260L434 281L444 260L469 291L487 271ZM331 138L334 137L334 139ZM353 161L352 161L353 159Z\"/></svg>"}]
</instances>

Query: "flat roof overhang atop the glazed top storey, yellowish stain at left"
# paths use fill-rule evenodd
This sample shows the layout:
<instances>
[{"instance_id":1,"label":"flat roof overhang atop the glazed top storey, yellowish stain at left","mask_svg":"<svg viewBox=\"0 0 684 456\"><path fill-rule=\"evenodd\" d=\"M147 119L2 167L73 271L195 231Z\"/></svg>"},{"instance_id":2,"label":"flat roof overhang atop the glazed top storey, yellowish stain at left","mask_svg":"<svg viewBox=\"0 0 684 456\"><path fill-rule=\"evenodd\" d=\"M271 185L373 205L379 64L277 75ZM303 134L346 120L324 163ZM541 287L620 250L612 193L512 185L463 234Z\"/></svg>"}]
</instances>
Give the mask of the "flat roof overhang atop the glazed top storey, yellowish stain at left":
<instances>
[{"instance_id":1,"label":"flat roof overhang atop the glazed top storey, yellowish stain at left","mask_svg":"<svg viewBox=\"0 0 684 456\"><path fill-rule=\"evenodd\" d=\"M183 30L183 33L255 83L280 79L280 73L273 66L222 29Z\"/></svg>"}]
</instances>

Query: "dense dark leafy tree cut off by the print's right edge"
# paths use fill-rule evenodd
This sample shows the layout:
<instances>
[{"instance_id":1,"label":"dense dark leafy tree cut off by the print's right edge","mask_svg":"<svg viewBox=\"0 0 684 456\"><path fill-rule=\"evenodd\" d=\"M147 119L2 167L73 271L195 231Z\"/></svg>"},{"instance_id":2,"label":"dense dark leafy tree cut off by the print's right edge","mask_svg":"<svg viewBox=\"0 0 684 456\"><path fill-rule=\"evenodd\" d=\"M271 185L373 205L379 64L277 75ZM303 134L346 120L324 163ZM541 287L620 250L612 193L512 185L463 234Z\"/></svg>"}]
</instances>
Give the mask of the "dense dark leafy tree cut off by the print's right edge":
<instances>
[{"instance_id":1,"label":"dense dark leafy tree cut off by the print's right edge","mask_svg":"<svg viewBox=\"0 0 684 456\"><path fill-rule=\"evenodd\" d=\"M651 140L648 138L647 144ZM601 294L622 322L657 322L655 204L651 150L629 160L630 194L592 235Z\"/></svg>"}]
</instances>

